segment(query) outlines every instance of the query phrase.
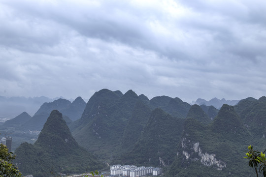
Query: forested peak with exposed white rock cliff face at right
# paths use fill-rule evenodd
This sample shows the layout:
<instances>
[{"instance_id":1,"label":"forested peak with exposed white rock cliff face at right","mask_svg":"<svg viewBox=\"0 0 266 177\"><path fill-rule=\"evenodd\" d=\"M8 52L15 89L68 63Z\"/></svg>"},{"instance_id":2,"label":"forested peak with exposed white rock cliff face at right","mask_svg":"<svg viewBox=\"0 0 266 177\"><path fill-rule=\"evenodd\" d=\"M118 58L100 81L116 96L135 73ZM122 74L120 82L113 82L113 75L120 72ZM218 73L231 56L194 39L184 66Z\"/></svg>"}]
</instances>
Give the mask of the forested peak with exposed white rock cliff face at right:
<instances>
[{"instance_id":1,"label":"forested peak with exposed white rock cliff face at right","mask_svg":"<svg viewBox=\"0 0 266 177\"><path fill-rule=\"evenodd\" d=\"M223 105L208 125L187 118L178 155L168 177L243 177L253 174L243 168L243 151L252 136L233 106ZM232 159L233 158L233 159Z\"/></svg>"}]
</instances>

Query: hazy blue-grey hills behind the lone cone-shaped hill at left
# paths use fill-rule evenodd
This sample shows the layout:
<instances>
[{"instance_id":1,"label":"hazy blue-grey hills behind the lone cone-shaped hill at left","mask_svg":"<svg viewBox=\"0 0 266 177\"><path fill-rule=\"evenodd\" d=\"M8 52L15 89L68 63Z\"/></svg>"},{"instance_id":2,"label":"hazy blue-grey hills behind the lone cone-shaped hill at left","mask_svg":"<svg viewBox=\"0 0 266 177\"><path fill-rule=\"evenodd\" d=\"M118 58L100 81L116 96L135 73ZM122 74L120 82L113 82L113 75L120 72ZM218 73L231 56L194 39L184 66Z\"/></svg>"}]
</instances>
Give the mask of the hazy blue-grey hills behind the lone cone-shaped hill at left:
<instances>
[{"instance_id":1,"label":"hazy blue-grey hills behind the lone cone-shaped hill at left","mask_svg":"<svg viewBox=\"0 0 266 177\"><path fill-rule=\"evenodd\" d=\"M51 103L44 103L38 111L31 117L23 112L19 116L7 120L0 125L0 132L7 136L12 136L12 151L21 143L34 143L39 131L49 117L52 110L59 110L63 114L63 119L67 125L81 117L86 103L81 97L77 97L72 103L66 99L58 99Z\"/></svg>"}]
</instances>

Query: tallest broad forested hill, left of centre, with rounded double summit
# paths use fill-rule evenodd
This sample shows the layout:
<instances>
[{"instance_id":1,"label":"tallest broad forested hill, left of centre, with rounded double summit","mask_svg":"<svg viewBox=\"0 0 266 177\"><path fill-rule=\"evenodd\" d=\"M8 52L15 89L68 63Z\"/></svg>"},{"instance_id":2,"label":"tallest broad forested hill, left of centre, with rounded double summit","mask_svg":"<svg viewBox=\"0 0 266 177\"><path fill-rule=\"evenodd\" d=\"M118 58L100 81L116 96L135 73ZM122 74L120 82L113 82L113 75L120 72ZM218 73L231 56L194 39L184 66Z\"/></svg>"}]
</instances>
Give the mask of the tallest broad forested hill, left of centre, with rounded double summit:
<instances>
[{"instance_id":1,"label":"tallest broad forested hill, left of centre, with rounded double summit","mask_svg":"<svg viewBox=\"0 0 266 177\"><path fill-rule=\"evenodd\" d=\"M108 153L114 154L119 150L125 127L139 101L132 90L123 96L108 89L96 92L87 103L81 119L71 125L74 138L102 158L106 158ZM91 144L91 141L94 143Z\"/></svg>"}]
</instances>

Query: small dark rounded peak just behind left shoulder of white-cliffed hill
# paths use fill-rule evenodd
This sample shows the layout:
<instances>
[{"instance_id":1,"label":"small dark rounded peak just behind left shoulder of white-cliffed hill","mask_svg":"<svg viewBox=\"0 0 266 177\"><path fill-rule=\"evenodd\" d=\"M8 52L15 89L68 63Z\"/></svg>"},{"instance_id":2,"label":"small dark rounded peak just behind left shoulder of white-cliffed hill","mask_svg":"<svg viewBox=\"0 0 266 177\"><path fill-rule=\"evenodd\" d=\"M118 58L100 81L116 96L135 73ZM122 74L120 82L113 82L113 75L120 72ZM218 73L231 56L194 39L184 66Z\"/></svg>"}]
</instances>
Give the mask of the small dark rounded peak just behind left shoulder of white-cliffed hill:
<instances>
[{"instance_id":1,"label":"small dark rounded peak just behind left shoulder of white-cliffed hill","mask_svg":"<svg viewBox=\"0 0 266 177\"><path fill-rule=\"evenodd\" d=\"M206 115L206 113L199 107L199 105L192 105L187 118L195 118L199 122L208 124L211 122L211 119Z\"/></svg>"}]
</instances>

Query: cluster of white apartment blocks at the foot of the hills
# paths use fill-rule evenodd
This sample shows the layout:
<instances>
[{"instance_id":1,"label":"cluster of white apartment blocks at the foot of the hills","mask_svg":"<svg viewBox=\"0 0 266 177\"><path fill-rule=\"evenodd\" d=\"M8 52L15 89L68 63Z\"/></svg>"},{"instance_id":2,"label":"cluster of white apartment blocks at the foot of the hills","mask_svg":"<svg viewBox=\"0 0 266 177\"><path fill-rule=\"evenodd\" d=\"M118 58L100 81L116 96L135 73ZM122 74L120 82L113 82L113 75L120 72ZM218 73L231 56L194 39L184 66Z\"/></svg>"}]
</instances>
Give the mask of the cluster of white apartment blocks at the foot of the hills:
<instances>
[{"instance_id":1,"label":"cluster of white apartment blocks at the foot of the hills","mask_svg":"<svg viewBox=\"0 0 266 177\"><path fill-rule=\"evenodd\" d=\"M110 167L110 175L111 176L123 176L123 177L143 177L153 175L153 169L156 170L156 176L162 173L161 168L153 168L153 167L136 167L134 165L112 165Z\"/></svg>"}]
</instances>

